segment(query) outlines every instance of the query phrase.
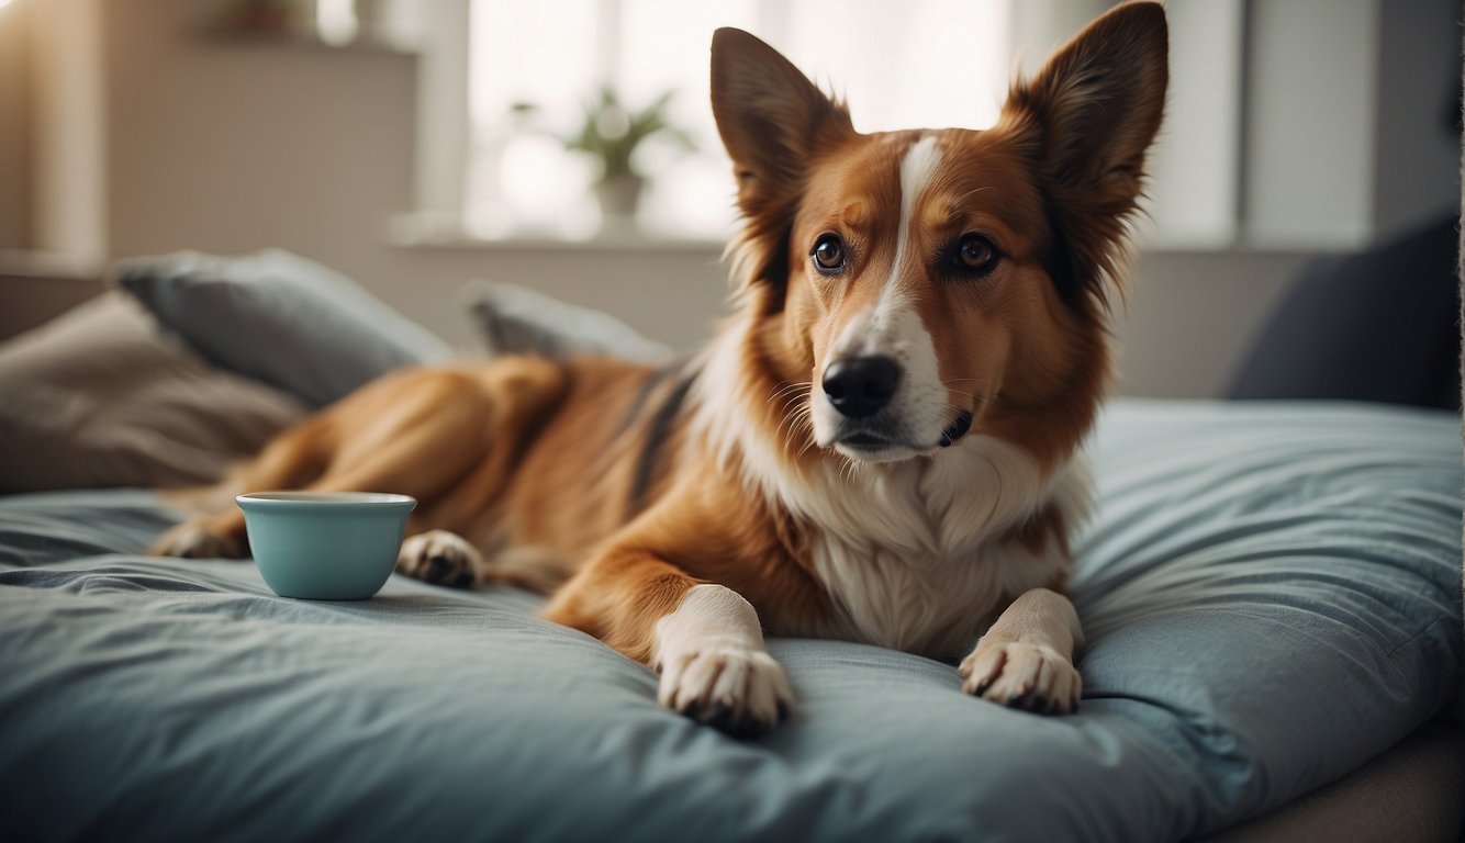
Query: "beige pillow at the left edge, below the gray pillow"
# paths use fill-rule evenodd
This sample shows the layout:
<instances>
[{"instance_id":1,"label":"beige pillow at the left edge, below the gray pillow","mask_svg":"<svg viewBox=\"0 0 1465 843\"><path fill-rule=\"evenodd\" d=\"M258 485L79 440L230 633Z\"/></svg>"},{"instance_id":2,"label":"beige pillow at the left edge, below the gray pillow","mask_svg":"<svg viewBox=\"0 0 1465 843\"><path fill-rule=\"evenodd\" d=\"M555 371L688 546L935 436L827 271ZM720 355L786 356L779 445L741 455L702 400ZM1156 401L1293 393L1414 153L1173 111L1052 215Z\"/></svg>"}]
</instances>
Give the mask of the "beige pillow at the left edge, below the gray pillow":
<instances>
[{"instance_id":1,"label":"beige pillow at the left edge, below the gray pillow","mask_svg":"<svg viewBox=\"0 0 1465 843\"><path fill-rule=\"evenodd\" d=\"M107 293L0 344L0 492L211 482L303 414Z\"/></svg>"}]
</instances>

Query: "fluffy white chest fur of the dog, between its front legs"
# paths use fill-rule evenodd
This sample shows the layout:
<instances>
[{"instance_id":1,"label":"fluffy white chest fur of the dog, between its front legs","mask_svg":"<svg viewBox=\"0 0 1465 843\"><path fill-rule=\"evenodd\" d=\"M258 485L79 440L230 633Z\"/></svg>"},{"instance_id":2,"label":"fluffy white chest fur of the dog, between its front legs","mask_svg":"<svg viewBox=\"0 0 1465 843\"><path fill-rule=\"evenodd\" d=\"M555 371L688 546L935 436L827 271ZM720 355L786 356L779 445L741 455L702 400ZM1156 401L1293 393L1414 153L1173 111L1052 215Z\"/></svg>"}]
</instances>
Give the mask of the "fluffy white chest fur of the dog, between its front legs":
<instances>
[{"instance_id":1,"label":"fluffy white chest fur of the dog, between its front legs","mask_svg":"<svg viewBox=\"0 0 1465 843\"><path fill-rule=\"evenodd\" d=\"M1020 449L968 436L952 452L837 477L807 501L813 565L842 635L930 656L965 653L1018 594L1056 580L1068 559L1050 542L1001 536L1043 502L1083 517L1081 461L1045 479Z\"/></svg>"}]
</instances>

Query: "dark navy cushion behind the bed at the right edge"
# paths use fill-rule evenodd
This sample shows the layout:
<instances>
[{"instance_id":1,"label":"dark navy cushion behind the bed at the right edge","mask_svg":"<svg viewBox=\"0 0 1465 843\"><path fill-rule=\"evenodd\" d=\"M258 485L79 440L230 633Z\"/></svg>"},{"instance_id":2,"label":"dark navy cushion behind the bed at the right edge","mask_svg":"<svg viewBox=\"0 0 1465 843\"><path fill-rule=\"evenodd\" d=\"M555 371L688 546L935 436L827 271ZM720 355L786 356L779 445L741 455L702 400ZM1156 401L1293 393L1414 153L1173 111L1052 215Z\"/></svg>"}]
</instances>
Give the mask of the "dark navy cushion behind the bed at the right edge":
<instances>
[{"instance_id":1,"label":"dark navy cushion behind the bed at the right edge","mask_svg":"<svg viewBox=\"0 0 1465 843\"><path fill-rule=\"evenodd\" d=\"M1231 398L1335 398L1459 410L1458 217L1313 263L1253 341Z\"/></svg>"}]
</instances>

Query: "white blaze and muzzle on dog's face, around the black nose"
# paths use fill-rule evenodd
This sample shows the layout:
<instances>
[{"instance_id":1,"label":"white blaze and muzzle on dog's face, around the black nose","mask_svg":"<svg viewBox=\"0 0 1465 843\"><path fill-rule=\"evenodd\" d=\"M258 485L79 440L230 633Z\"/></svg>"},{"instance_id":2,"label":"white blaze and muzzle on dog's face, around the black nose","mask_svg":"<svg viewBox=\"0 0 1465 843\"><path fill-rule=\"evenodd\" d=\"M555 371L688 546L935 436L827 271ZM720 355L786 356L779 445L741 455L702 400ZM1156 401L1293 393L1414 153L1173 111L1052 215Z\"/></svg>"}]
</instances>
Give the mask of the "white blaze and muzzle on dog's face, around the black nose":
<instances>
[{"instance_id":1,"label":"white blaze and muzzle on dog's face, around the black nose","mask_svg":"<svg viewBox=\"0 0 1465 843\"><path fill-rule=\"evenodd\" d=\"M900 366L900 386L891 404L878 416L878 423L882 433L901 446L872 452L839 445L838 439L848 423L823 391L815 388L815 439L823 446L834 445L847 457L870 462L902 460L913 451L935 448L948 423L946 389L941 383L936 347L916 307L916 278L921 275L921 268L919 262L907 266L911 262L916 206L939 167L941 149L930 135L913 143L901 157L901 217L891 274L875 304L845 325L831 345L823 366L828 370L832 363L853 357L889 357ZM822 376L820 372L820 379Z\"/></svg>"}]
</instances>

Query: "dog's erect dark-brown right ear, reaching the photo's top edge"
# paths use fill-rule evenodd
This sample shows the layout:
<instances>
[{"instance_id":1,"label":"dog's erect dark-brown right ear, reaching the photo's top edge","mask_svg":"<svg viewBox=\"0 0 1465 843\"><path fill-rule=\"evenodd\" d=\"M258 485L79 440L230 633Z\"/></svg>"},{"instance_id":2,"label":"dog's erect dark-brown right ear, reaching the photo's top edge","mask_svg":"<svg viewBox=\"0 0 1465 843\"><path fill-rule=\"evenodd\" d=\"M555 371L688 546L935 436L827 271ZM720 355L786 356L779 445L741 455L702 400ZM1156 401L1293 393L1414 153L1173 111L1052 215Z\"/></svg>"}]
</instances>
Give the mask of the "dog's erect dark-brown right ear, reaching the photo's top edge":
<instances>
[{"instance_id":1,"label":"dog's erect dark-brown right ear, reaching the photo's top edge","mask_svg":"<svg viewBox=\"0 0 1465 843\"><path fill-rule=\"evenodd\" d=\"M1159 3L1110 9L1012 86L999 126L1020 133L1039 164L1055 239L1072 252L1074 281L1105 300L1094 275L1112 269L1124 221L1143 190L1144 157L1160 127L1169 34Z\"/></svg>"}]
</instances>

